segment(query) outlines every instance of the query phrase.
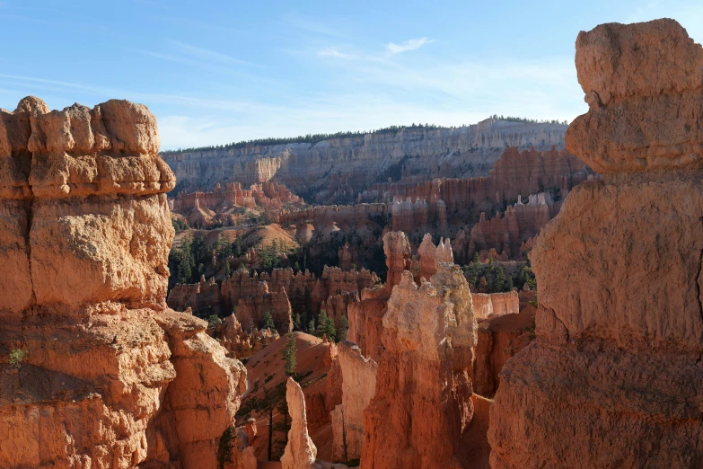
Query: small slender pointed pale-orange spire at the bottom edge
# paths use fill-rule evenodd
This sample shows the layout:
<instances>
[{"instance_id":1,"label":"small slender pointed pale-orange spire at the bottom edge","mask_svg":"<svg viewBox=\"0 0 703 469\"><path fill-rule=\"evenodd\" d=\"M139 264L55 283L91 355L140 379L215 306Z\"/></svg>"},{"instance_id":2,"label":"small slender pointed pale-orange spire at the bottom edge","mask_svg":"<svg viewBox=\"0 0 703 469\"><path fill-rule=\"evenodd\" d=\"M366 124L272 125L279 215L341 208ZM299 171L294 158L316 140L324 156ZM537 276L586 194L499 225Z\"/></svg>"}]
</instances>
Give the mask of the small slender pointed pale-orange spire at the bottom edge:
<instances>
[{"instance_id":1,"label":"small slender pointed pale-orange spire at the bottom edge","mask_svg":"<svg viewBox=\"0 0 703 469\"><path fill-rule=\"evenodd\" d=\"M305 417L305 396L293 378L286 383L286 402L291 416L291 429L288 431L286 452L281 457L283 469L321 469L315 464L317 448L308 436L308 423Z\"/></svg>"}]
</instances>

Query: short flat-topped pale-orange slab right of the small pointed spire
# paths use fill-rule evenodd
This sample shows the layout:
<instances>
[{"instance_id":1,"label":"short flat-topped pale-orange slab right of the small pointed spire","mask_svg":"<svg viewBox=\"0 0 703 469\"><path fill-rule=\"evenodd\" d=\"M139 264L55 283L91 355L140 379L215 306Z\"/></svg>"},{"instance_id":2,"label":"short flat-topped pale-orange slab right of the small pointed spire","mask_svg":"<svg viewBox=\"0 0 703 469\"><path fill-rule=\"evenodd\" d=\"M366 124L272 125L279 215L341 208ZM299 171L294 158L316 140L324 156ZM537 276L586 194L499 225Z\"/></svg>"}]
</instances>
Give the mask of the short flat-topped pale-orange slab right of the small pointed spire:
<instances>
[{"instance_id":1,"label":"short flat-topped pale-orange slab right of the small pointed spire","mask_svg":"<svg viewBox=\"0 0 703 469\"><path fill-rule=\"evenodd\" d=\"M355 344L338 345L338 361L342 374L342 403L331 412L333 459L349 461L361 457L364 447L364 410L376 392L378 366L365 358Z\"/></svg>"}]
</instances>

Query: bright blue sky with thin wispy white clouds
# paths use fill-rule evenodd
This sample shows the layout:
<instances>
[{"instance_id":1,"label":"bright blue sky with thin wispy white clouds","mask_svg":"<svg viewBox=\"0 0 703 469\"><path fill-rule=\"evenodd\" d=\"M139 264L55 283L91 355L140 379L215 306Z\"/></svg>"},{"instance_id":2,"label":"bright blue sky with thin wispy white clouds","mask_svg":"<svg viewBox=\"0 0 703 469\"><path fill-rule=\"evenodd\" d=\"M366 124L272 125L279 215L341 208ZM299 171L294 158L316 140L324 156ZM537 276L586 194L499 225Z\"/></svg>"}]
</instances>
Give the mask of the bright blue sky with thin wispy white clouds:
<instances>
[{"instance_id":1,"label":"bright blue sky with thin wispy white clouds","mask_svg":"<svg viewBox=\"0 0 703 469\"><path fill-rule=\"evenodd\" d=\"M162 148L489 115L574 119L578 31L703 3L0 1L0 107L143 102Z\"/></svg>"}]
</instances>

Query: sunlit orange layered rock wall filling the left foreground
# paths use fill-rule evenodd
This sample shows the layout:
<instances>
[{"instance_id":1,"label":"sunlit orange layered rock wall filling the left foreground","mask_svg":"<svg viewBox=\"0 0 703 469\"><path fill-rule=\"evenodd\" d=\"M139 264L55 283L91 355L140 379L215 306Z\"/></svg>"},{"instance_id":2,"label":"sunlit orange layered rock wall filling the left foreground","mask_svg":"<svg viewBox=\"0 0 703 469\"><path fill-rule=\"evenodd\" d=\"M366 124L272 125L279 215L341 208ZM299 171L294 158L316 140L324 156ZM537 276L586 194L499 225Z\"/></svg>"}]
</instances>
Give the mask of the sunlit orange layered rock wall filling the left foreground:
<instances>
[{"instance_id":1,"label":"sunlit orange layered rock wall filling the left foreground","mask_svg":"<svg viewBox=\"0 0 703 469\"><path fill-rule=\"evenodd\" d=\"M131 102L0 111L2 467L215 467L246 372L165 307L158 147Z\"/></svg>"}]
</instances>

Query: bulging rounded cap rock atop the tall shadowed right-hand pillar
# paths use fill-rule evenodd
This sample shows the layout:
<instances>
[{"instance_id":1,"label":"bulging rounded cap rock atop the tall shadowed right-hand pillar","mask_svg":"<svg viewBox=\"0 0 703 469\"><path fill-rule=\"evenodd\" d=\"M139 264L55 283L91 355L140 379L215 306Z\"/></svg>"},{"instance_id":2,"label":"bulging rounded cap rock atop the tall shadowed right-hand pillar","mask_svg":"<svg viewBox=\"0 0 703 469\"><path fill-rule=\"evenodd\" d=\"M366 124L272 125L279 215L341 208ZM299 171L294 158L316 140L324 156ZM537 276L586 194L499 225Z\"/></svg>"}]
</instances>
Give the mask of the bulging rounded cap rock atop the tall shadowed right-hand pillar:
<instances>
[{"instance_id":1,"label":"bulging rounded cap rock atop the tall shadowed right-hand pillar","mask_svg":"<svg viewBox=\"0 0 703 469\"><path fill-rule=\"evenodd\" d=\"M582 31L576 71L590 109L567 145L599 173L703 167L701 69L703 50L673 20Z\"/></svg>"}]
</instances>

